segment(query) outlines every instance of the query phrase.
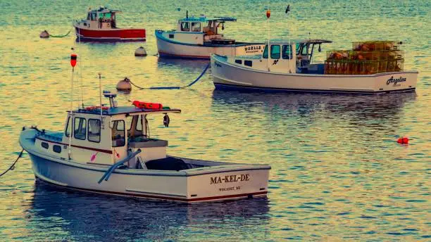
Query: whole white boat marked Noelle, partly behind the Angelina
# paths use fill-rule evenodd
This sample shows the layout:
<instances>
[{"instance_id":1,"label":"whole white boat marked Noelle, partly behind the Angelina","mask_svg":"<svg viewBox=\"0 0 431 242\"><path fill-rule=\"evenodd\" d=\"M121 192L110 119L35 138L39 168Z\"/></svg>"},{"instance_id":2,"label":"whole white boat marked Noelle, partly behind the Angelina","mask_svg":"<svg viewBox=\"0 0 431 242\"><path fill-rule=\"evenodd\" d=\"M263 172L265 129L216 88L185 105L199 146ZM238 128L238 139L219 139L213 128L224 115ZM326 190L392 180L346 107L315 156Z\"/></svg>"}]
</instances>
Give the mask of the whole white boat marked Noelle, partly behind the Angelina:
<instances>
[{"instance_id":1,"label":"whole white boat marked Noelle, partly behind the Angelina","mask_svg":"<svg viewBox=\"0 0 431 242\"><path fill-rule=\"evenodd\" d=\"M156 30L159 56L177 58L209 59L211 53L219 55L244 56L263 52L263 43L236 42L227 39L218 30L235 18L204 16L182 18L176 30ZM220 26L221 25L221 26Z\"/></svg>"}]
</instances>

